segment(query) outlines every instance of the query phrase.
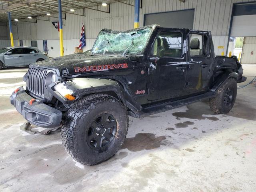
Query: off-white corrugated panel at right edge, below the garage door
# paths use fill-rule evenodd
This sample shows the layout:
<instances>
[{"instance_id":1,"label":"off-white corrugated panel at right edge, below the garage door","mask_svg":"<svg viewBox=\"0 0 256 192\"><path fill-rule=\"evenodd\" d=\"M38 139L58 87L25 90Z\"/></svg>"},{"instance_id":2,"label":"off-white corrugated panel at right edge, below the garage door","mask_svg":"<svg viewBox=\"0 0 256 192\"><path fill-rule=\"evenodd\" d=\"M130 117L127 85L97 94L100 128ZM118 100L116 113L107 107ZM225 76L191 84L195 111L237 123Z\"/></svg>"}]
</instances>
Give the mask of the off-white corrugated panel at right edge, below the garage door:
<instances>
[{"instance_id":1,"label":"off-white corrugated panel at right edge, below the garage door","mask_svg":"<svg viewBox=\"0 0 256 192\"><path fill-rule=\"evenodd\" d=\"M256 37L245 37L242 51L242 63L255 64L256 62Z\"/></svg>"}]
</instances>

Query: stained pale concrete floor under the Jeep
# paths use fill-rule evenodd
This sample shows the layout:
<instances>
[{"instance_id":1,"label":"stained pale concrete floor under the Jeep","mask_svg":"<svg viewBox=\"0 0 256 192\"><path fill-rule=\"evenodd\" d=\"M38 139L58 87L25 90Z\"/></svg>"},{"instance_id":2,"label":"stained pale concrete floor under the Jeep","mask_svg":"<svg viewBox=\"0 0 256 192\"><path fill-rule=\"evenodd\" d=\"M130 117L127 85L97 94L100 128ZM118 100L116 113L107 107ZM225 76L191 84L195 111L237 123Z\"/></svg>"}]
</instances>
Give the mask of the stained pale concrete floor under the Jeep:
<instances>
[{"instance_id":1,"label":"stained pale concrete floor under the Jeep","mask_svg":"<svg viewBox=\"0 0 256 192\"><path fill-rule=\"evenodd\" d=\"M205 101L142 120L130 117L122 150L84 166L65 152L59 131L44 136L20 130L25 121L9 95L24 85L26 71L0 71L0 191L256 190L254 85L238 90L226 115L213 114ZM256 65L245 64L244 74L251 80Z\"/></svg>"}]
</instances>

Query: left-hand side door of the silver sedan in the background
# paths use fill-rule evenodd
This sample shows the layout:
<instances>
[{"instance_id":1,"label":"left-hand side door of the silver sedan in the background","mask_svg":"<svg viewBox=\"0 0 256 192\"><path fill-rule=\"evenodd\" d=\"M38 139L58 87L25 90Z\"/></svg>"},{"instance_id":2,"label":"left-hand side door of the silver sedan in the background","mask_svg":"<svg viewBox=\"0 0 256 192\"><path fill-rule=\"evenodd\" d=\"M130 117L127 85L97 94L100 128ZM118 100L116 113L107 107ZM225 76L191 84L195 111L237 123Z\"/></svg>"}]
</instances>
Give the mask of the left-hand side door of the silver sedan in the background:
<instances>
[{"instance_id":1,"label":"left-hand side door of the silver sedan in the background","mask_svg":"<svg viewBox=\"0 0 256 192\"><path fill-rule=\"evenodd\" d=\"M24 55L22 55L22 48L13 48L4 55L4 63L8 67L13 66L23 66L24 65Z\"/></svg>"}]
</instances>

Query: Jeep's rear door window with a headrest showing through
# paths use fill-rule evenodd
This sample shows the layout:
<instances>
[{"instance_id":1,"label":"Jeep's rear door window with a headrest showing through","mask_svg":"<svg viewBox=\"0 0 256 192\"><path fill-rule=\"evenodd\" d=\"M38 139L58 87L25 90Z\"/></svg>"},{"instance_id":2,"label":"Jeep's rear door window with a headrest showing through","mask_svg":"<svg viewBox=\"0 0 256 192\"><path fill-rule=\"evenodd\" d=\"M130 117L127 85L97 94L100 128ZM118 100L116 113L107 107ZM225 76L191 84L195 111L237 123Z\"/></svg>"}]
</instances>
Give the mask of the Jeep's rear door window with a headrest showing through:
<instances>
[{"instance_id":1,"label":"Jeep's rear door window with a headrest showing through","mask_svg":"<svg viewBox=\"0 0 256 192\"><path fill-rule=\"evenodd\" d=\"M207 55L207 36L202 34L189 34L190 45L189 53L190 56L206 56Z\"/></svg>"}]
</instances>

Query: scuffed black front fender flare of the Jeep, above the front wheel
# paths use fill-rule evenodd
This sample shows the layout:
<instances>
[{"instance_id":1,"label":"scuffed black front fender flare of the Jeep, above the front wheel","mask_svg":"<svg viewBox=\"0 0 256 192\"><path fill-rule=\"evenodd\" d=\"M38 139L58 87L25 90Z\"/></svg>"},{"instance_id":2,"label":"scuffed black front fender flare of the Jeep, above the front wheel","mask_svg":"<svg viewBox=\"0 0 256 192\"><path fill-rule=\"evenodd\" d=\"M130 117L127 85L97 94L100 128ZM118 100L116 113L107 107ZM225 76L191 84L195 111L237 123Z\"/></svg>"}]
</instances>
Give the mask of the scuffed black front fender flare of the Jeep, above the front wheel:
<instances>
[{"instance_id":1,"label":"scuffed black front fender flare of the Jeep, above the front wheel","mask_svg":"<svg viewBox=\"0 0 256 192\"><path fill-rule=\"evenodd\" d=\"M74 78L72 80L62 81L66 89L72 90L72 95L76 97L74 101L66 100L61 94L54 90L54 86L50 89L52 95L60 100L64 105L69 106L79 98L82 98L89 94L97 93L114 93L119 100L122 101L124 106L130 109L132 112L139 112L142 107L136 102L136 100L130 96L121 86L119 82L111 79L100 78Z\"/></svg>"}]
</instances>

